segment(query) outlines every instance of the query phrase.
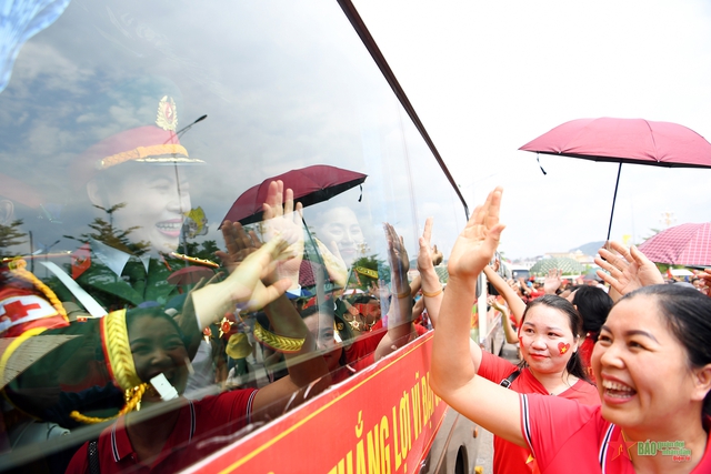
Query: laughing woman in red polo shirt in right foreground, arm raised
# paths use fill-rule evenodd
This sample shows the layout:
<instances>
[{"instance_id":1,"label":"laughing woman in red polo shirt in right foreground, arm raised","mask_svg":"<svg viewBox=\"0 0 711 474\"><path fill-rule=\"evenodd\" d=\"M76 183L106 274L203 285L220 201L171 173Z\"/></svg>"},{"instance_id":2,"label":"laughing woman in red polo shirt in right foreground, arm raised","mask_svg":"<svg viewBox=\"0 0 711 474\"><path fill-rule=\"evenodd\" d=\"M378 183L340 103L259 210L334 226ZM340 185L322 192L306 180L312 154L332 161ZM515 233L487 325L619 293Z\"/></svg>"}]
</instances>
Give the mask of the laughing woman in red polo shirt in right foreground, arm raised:
<instances>
[{"instance_id":1,"label":"laughing woman in red polo shirt in right foreground, arm raised","mask_svg":"<svg viewBox=\"0 0 711 474\"><path fill-rule=\"evenodd\" d=\"M592 367L601 406L515 394L469 361L469 313L477 275L503 225L500 188L477 208L449 260L434 332L430 384L459 413L531 450L541 473L711 472L711 300L693 289L653 285L654 264L637 249L597 262L621 294L601 329ZM533 464L533 463L531 463ZM535 472L535 471L534 471Z\"/></svg>"}]
</instances>

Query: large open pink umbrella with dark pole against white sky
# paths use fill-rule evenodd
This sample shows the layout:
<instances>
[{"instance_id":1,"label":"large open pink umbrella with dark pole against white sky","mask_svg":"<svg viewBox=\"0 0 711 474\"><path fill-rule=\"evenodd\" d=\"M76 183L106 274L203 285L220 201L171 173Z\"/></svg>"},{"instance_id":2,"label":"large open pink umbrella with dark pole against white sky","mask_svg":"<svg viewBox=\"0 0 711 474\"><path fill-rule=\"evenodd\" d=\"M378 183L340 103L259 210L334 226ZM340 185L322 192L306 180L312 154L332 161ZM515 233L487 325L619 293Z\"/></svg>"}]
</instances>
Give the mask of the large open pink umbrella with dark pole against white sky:
<instances>
[{"instance_id":1,"label":"large open pink umbrella with dark pole against white sky","mask_svg":"<svg viewBox=\"0 0 711 474\"><path fill-rule=\"evenodd\" d=\"M612 229L622 163L668 168L711 168L711 143L691 129L643 119L579 119L565 122L519 150L620 163L608 240Z\"/></svg>"}]
</instances>

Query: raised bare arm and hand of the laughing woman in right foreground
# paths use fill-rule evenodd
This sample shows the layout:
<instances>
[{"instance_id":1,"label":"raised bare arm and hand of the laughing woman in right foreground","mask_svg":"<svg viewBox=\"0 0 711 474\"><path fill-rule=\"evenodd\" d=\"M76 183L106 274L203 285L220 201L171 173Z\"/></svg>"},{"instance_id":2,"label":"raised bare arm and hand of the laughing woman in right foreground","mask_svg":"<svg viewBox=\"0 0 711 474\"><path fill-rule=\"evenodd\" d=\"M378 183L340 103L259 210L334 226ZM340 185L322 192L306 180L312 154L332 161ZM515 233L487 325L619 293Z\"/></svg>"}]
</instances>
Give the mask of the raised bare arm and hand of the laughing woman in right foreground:
<instances>
[{"instance_id":1,"label":"raised bare arm and hand of the laughing woman in right foreground","mask_svg":"<svg viewBox=\"0 0 711 474\"><path fill-rule=\"evenodd\" d=\"M469 324L477 276L491 261L503 225L499 223L501 188L472 213L450 255L449 283L434 331L430 386L452 409L485 430L525 446L519 395L477 376L469 361Z\"/></svg>"}]
</instances>

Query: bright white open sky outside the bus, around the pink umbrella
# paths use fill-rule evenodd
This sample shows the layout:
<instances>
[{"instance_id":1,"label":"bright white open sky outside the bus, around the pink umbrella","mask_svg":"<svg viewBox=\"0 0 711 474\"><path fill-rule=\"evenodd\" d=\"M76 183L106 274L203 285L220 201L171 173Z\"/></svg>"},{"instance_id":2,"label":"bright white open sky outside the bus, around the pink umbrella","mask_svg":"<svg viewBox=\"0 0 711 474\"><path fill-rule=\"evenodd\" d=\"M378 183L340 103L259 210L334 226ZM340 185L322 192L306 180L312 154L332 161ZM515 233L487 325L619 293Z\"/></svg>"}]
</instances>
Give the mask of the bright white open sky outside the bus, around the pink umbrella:
<instances>
[{"instance_id":1,"label":"bright white open sky outside the bus, around the pink umbrella","mask_svg":"<svg viewBox=\"0 0 711 474\"><path fill-rule=\"evenodd\" d=\"M473 209L504 188L509 258L604 240L618 165L518 149L581 118L683 124L711 139L704 1L354 0ZM711 170L623 165L611 238L711 220ZM665 219L670 216L671 219Z\"/></svg>"}]
</instances>

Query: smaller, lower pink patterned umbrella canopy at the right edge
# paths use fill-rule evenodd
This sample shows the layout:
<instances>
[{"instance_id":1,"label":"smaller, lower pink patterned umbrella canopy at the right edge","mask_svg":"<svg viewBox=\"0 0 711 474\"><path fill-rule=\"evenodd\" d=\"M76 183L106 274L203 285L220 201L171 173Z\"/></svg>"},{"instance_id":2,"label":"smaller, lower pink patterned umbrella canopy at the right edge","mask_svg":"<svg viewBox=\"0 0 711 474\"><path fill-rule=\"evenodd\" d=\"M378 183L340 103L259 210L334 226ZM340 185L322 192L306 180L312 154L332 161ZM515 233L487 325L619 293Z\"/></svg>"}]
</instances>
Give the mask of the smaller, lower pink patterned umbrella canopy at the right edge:
<instances>
[{"instance_id":1,"label":"smaller, lower pink patterned umbrella canopy at the right edge","mask_svg":"<svg viewBox=\"0 0 711 474\"><path fill-rule=\"evenodd\" d=\"M644 241L639 249L657 263L711 266L711 222L669 228Z\"/></svg>"}]
</instances>

